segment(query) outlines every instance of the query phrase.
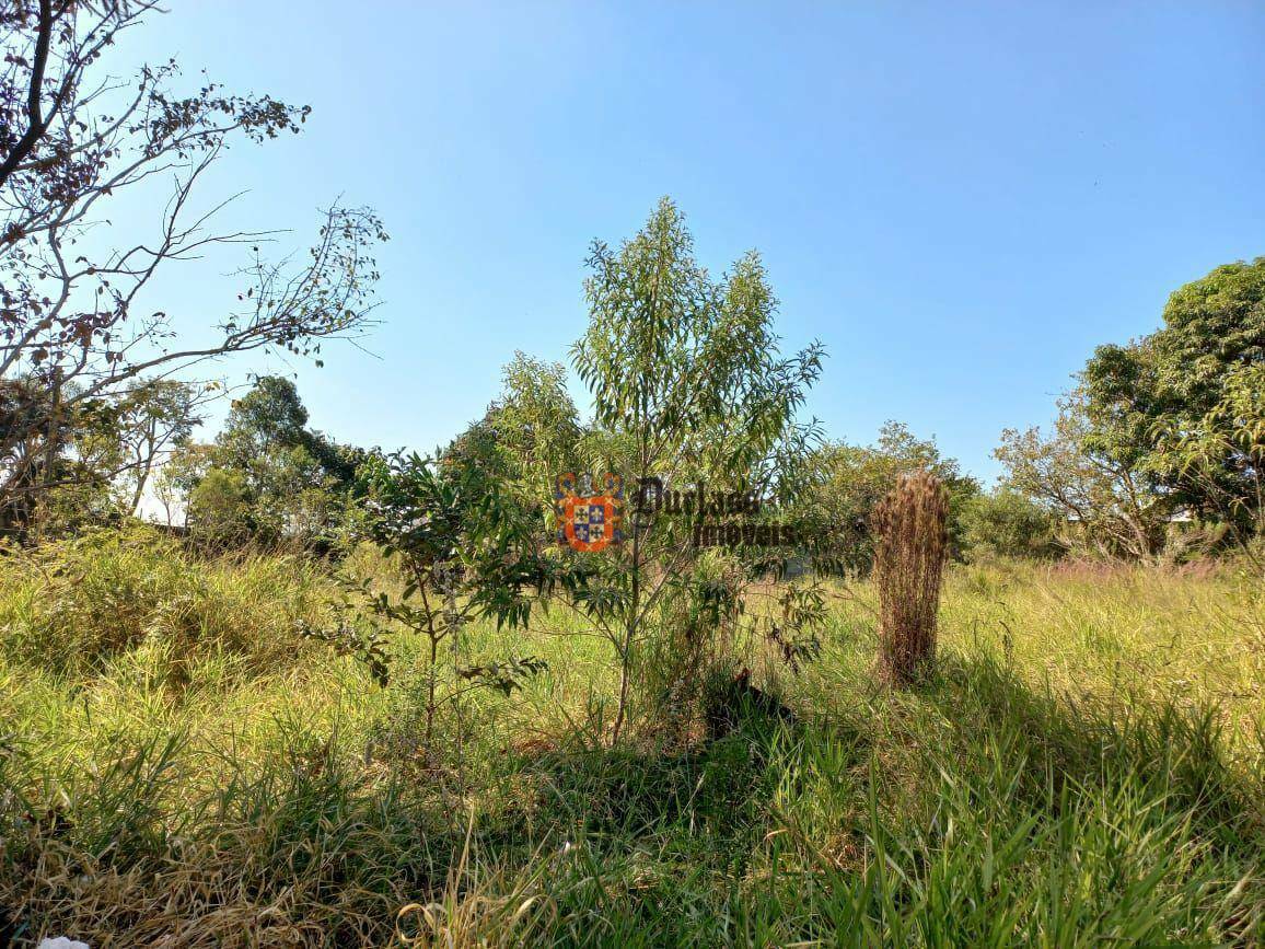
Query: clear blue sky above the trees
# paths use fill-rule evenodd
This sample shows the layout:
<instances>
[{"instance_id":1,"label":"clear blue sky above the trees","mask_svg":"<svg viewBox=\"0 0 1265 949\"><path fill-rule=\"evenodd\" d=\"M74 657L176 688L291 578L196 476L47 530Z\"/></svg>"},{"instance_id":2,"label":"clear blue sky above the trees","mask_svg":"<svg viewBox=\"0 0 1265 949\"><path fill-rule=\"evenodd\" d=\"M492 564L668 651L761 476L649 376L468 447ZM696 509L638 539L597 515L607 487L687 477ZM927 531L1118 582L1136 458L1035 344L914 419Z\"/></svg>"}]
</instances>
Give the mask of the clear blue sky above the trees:
<instances>
[{"instance_id":1,"label":"clear blue sky above the trees","mask_svg":"<svg viewBox=\"0 0 1265 949\"><path fill-rule=\"evenodd\" d=\"M1265 254L1265 5L1246 0L171 6L116 70L176 54L191 81L314 109L228 153L206 197L249 194L225 225L301 248L342 195L392 235L368 353L223 369L297 373L339 440L433 448L515 349L564 359L588 243L664 194L715 271L762 252L788 348L825 343L808 411L832 437L899 419L984 478L1094 345ZM161 305L206 324L233 263L168 273Z\"/></svg>"}]
</instances>

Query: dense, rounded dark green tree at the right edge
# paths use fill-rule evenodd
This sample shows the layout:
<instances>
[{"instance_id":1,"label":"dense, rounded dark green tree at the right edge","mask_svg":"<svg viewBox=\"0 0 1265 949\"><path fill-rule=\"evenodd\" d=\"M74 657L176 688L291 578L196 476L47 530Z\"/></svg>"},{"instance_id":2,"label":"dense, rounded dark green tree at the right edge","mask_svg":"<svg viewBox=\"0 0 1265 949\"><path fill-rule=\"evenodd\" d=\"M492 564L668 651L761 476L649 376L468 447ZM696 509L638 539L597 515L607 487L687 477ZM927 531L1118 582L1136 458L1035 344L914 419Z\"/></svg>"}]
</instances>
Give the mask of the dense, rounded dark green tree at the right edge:
<instances>
[{"instance_id":1,"label":"dense, rounded dark green tree at the right edge","mask_svg":"<svg viewBox=\"0 0 1265 949\"><path fill-rule=\"evenodd\" d=\"M1145 481L1170 506L1240 528L1259 516L1257 472L1240 448L1189 464L1188 450L1241 373L1265 364L1265 257L1217 267L1169 297L1164 326L1099 347L1084 372L1087 448ZM1237 514L1231 515L1231 510Z\"/></svg>"}]
</instances>

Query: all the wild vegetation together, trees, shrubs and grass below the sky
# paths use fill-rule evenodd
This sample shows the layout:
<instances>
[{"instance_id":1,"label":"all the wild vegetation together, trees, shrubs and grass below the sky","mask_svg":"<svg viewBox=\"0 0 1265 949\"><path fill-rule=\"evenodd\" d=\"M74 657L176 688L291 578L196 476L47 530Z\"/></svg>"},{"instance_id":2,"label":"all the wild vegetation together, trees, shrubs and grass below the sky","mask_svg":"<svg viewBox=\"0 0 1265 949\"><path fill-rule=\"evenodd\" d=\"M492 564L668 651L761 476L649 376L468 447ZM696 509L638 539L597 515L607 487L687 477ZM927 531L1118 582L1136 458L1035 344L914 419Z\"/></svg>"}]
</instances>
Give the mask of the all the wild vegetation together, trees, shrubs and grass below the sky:
<instances>
[{"instance_id":1,"label":"all the wild vegetation together, trees, shrubs and grass below the sky","mask_svg":"<svg viewBox=\"0 0 1265 949\"><path fill-rule=\"evenodd\" d=\"M197 440L195 367L361 332L386 235L334 209L291 271L182 223L307 111L175 66L115 102L83 76L149 13L0 19L0 943L1265 941L1265 258L1099 348L992 490L827 439L825 348L668 199L591 248L591 412L519 353L434 456L280 376ZM68 263L156 168L157 243ZM133 306L242 242L210 342ZM558 543L584 473L603 549Z\"/></svg>"}]
</instances>

